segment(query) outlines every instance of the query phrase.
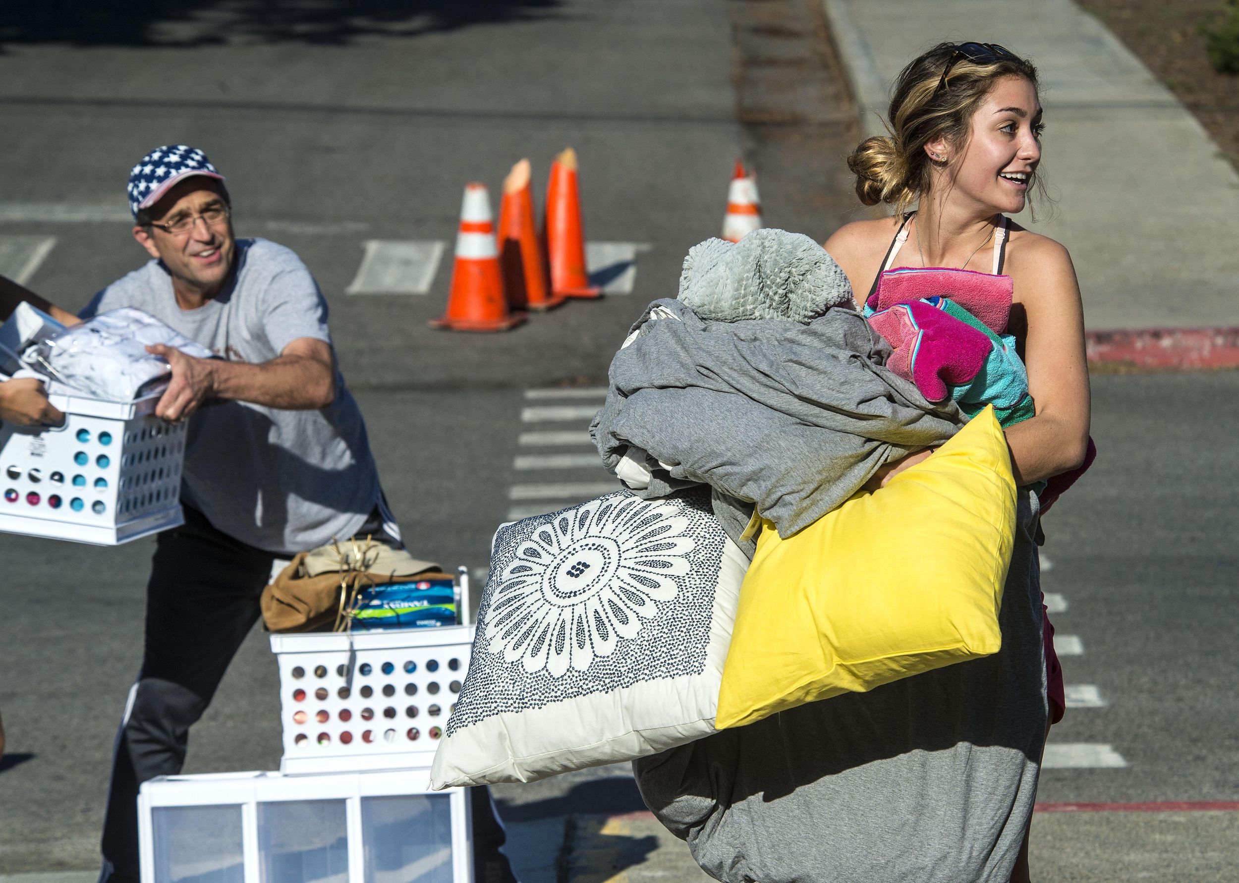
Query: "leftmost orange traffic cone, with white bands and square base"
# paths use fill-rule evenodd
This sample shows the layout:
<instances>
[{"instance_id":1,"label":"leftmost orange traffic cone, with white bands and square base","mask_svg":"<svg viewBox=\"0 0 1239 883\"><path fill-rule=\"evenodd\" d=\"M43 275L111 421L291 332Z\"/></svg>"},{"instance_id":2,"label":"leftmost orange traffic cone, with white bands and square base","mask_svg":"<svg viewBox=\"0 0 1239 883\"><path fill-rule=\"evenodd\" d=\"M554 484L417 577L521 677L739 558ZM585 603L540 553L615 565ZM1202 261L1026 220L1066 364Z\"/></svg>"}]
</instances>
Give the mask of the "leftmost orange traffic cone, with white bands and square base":
<instances>
[{"instance_id":1,"label":"leftmost orange traffic cone, with white bands and square base","mask_svg":"<svg viewBox=\"0 0 1239 883\"><path fill-rule=\"evenodd\" d=\"M508 310L503 295L503 271L494 248L491 196L486 185L465 185L460 233L456 234L456 266L447 312L431 328L452 331L506 331L525 321L524 313Z\"/></svg>"}]
</instances>

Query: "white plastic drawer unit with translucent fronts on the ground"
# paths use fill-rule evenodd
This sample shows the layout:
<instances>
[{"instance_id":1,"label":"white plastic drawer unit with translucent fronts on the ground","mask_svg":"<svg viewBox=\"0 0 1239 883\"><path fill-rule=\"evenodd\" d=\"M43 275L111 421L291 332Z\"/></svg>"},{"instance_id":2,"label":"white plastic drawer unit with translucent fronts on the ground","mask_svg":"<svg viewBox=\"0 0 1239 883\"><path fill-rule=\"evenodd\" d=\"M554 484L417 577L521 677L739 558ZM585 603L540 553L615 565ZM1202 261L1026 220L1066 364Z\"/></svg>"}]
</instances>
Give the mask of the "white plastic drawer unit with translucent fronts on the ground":
<instances>
[{"instance_id":1,"label":"white plastic drawer unit with translucent fronts on the ground","mask_svg":"<svg viewBox=\"0 0 1239 883\"><path fill-rule=\"evenodd\" d=\"M472 883L467 793L430 772L223 773L142 784L142 883Z\"/></svg>"}]
</instances>

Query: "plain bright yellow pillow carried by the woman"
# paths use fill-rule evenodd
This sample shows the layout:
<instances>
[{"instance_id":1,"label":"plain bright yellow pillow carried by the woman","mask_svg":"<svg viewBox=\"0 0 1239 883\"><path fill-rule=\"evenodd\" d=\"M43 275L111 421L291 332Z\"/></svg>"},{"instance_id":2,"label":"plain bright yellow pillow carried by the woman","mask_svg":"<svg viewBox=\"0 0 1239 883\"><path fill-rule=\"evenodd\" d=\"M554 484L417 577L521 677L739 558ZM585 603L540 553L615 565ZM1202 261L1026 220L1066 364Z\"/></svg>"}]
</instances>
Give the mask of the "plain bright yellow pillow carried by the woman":
<instances>
[{"instance_id":1,"label":"plain bright yellow pillow carried by the woman","mask_svg":"<svg viewBox=\"0 0 1239 883\"><path fill-rule=\"evenodd\" d=\"M719 729L997 653L1015 478L986 407L922 463L799 534L766 521L740 589Z\"/></svg>"}]
</instances>

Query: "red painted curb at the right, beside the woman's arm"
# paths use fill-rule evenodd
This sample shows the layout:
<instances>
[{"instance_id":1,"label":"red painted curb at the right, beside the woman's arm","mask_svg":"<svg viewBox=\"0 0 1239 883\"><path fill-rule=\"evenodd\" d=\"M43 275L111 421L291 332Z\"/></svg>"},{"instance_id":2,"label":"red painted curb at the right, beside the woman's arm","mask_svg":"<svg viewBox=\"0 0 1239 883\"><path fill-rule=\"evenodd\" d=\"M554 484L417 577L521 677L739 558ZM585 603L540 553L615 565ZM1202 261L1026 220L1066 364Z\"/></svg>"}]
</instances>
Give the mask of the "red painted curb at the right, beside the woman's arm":
<instances>
[{"instance_id":1,"label":"red painted curb at the right, beside the woman's arm","mask_svg":"<svg viewBox=\"0 0 1239 883\"><path fill-rule=\"evenodd\" d=\"M1239 368L1239 328L1134 328L1084 333L1089 362L1136 368Z\"/></svg>"}]
</instances>

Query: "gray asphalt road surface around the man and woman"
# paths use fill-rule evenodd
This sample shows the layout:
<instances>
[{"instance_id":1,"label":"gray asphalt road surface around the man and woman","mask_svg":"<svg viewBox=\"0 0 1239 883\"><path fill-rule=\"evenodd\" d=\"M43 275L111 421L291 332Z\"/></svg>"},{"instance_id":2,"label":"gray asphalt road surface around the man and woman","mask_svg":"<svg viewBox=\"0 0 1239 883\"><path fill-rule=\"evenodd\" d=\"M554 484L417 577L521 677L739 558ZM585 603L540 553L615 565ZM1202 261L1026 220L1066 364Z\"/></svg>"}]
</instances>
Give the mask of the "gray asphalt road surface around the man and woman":
<instances>
[{"instance_id":1,"label":"gray asphalt road surface around the man and woman","mask_svg":"<svg viewBox=\"0 0 1239 883\"><path fill-rule=\"evenodd\" d=\"M717 233L736 156L756 160L768 223L824 238L859 212L841 171L855 115L813 2L52 6L0 10L0 245L28 258L55 239L28 284L76 308L136 268L129 167L159 144L203 147L228 176L238 233L294 248L317 276L413 551L476 573L515 509L611 481L536 458L589 455L582 414L610 357L646 302L674 294L688 248ZM641 246L631 294L503 334L429 331L462 186L494 192L529 156L540 199L569 145L587 239ZM426 294L346 294L370 241L447 251ZM1052 741L1108 746L1124 765L1048 769L1043 801L1239 800L1237 393L1233 373L1094 379L1100 457L1047 516L1044 549L1044 587L1066 606L1054 622L1080 650L1063 659L1067 681L1092 687L1077 695L1094 707L1072 708ZM0 876L97 867L152 545L0 536ZM193 729L186 772L275 769L279 746L275 664L255 630ZM624 768L496 793L527 883L695 879L683 846L639 815ZM1183 879L1227 879L1233 824L1181 815L1162 827L1041 816L1035 862L1084 868L1054 879L1116 879L1097 856L1130 858L1136 837L1168 843L1158 861L1203 851L1223 868Z\"/></svg>"}]
</instances>

